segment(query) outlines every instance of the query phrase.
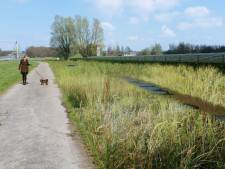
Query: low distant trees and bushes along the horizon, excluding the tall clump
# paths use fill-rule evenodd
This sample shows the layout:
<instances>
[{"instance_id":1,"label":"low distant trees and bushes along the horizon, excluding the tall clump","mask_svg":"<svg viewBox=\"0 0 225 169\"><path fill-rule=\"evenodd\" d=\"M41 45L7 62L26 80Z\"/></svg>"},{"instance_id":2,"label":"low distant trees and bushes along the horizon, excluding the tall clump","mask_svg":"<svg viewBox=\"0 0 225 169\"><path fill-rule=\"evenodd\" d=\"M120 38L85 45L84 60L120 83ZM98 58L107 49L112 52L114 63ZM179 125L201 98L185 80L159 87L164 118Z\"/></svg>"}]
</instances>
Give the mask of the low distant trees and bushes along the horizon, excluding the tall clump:
<instances>
[{"instance_id":1,"label":"low distant trees and bushes along the horizon, excluding the tall clump","mask_svg":"<svg viewBox=\"0 0 225 169\"><path fill-rule=\"evenodd\" d=\"M84 54L83 56L96 56L96 47L89 48L88 51L79 50L76 48L75 50L71 48L70 55L75 54ZM81 52L81 53L80 53ZM138 56L149 56L149 55L162 55L162 54L188 54L188 53L220 53L225 52L225 46L209 46L209 45L192 45L189 43L179 43L178 45L170 45L169 49L166 51L162 50L160 44L155 44L151 47L144 48L140 51L134 51L129 46L112 46L109 45L105 50L103 50L103 46L101 48L101 56L125 56L130 53L135 53ZM10 51L1 51L0 56L5 56L11 53ZM59 48L53 47L29 47L26 50L26 53L30 57L58 57L61 55L62 51ZM68 58L68 57L66 57Z\"/></svg>"}]
</instances>

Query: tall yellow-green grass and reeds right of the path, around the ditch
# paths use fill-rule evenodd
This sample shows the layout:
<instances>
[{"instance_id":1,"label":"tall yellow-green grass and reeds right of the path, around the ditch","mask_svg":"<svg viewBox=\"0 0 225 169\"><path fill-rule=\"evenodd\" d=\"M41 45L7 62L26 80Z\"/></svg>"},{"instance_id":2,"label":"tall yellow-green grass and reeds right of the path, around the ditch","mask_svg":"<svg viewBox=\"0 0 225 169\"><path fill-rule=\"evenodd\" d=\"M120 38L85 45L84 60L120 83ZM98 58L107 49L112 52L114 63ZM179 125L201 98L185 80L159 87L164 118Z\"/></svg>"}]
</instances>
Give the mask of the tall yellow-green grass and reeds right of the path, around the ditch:
<instances>
[{"instance_id":1,"label":"tall yellow-green grass and reeds right of the path, around the ditch","mask_svg":"<svg viewBox=\"0 0 225 169\"><path fill-rule=\"evenodd\" d=\"M225 78L215 69L96 62L50 64L69 116L99 168L225 167L224 124L204 123L197 110L118 78L149 80L183 93L208 96L207 100L224 105Z\"/></svg>"}]
</instances>

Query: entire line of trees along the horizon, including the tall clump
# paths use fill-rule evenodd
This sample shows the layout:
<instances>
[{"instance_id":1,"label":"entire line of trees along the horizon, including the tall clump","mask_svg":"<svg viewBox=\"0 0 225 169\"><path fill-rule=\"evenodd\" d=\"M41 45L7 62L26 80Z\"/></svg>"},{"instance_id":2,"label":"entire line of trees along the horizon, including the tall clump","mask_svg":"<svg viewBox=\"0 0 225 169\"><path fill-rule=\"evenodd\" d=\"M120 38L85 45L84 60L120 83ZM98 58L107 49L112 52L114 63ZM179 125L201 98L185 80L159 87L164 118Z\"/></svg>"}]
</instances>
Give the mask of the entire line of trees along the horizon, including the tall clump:
<instances>
[{"instance_id":1,"label":"entire line of trees along the horizon, including the tall clump","mask_svg":"<svg viewBox=\"0 0 225 169\"><path fill-rule=\"evenodd\" d=\"M52 24L50 47L29 47L27 54L31 57L61 56L68 59L76 54L97 56L101 51L102 56L135 55L161 55L161 54L187 54L187 53L218 53L225 52L225 46L193 45L181 42L178 45L170 44L169 49L163 51L159 43L133 51L129 46L104 46L104 30L98 19L90 22L86 17L55 16ZM0 50L0 56L7 52Z\"/></svg>"}]
</instances>

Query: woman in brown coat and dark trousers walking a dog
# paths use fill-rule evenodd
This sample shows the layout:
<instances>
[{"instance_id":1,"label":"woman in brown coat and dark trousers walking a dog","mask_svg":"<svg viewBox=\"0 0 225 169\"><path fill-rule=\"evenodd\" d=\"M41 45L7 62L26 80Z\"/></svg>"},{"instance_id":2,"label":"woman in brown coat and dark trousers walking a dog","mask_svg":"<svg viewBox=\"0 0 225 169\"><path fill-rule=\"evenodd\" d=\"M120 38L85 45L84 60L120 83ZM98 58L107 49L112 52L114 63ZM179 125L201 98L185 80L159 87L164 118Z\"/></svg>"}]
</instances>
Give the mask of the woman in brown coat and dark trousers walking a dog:
<instances>
[{"instance_id":1,"label":"woman in brown coat and dark trousers walking a dog","mask_svg":"<svg viewBox=\"0 0 225 169\"><path fill-rule=\"evenodd\" d=\"M20 60L19 64L19 70L22 75L23 85L27 84L27 74L29 72L29 61L27 55L24 55L24 57Z\"/></svg>"}]
</instances>

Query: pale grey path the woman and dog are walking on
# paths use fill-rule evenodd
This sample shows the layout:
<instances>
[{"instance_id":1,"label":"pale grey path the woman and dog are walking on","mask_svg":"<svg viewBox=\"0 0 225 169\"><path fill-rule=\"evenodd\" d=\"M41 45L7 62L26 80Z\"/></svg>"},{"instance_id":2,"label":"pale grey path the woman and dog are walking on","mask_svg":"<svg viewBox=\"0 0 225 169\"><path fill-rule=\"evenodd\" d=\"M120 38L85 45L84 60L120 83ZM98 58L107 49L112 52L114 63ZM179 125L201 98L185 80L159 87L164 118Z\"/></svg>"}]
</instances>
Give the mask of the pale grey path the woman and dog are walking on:
<instances>
[{"instance_id":1,"label":"pale grey path the woman and dog are walking on","mask_svg":"<svg viewBox=\"0 0 225 169\"><path fill-rule=\"evenodd\" d=\"M38 70L50 80L41 86ZM91 169L78 135L71 137L60 91L47 63L29 74L29 84L0 96L1 169Z\"/></svg>"}]
</instances>

